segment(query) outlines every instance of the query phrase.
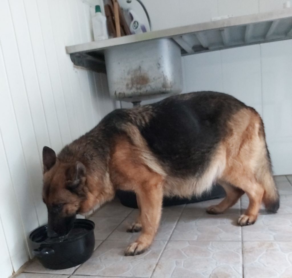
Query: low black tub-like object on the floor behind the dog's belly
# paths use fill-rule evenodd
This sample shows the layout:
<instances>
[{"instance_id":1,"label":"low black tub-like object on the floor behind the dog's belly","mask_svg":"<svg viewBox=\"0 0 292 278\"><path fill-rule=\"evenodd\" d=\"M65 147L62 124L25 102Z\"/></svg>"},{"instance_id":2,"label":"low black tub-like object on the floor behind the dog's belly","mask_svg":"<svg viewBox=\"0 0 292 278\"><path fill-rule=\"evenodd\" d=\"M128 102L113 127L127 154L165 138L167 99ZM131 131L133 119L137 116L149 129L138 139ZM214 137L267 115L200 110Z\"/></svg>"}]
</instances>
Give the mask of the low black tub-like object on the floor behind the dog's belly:
<instances>
[{"instance_id":1,"label":"low black tub-like object on the floor behind the dog's belly","mask_svg":"<svg viewBox=\"0 0 292 278\"><path fill-rule=\"evenodd\" d=\"M132 191L123 191L123 190L117 190L116 193L117 197L121 201L121 204L126 207L131 208L138 208L137 200L136 200L136 194ZM213 186L212 190L209 193L204 193L200 197L193 196L191 199L186 198L163 198L163 206L174 206L174 205L183 205L183 204L190 204L190 203L197 203L201 201L206 200L212 200L217 198L223 198L225 197L225 191L220 185Z\"/></svg>"}]
</instances>

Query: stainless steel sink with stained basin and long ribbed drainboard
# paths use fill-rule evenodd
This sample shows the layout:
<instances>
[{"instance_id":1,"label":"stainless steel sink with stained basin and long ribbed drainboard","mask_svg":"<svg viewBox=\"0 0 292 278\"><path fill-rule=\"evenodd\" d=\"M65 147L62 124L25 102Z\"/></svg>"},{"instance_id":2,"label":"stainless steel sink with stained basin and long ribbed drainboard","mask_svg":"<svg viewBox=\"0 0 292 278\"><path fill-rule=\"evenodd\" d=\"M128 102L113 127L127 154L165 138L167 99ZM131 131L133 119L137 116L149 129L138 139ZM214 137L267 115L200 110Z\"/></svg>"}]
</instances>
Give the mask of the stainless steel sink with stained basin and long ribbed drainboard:
<instances>
[{"instance_id":1,"label":"stainless steel sink with stained basin and long ribbed drainboard","mask_svg":"<svg viewBox=\"0 0 292 278\"><path fill-rule=\"evenodd\" d=\"M87 42L66 50L76 66L107 72L114 99L139 102L182 90L180 55L291 38L292 8L284 8Z\"/></svg>"}]
</instances>

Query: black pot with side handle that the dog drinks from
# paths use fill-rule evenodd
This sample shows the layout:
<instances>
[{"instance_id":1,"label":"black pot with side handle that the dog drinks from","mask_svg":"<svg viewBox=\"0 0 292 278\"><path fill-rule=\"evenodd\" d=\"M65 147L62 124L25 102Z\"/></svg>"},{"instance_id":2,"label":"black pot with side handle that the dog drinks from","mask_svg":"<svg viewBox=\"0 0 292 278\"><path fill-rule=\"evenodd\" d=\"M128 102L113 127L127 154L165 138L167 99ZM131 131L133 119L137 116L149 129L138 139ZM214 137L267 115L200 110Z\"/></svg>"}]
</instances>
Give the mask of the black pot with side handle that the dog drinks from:
<instances>
[{"instance_id":1,"label":"black pot with side handle that the dog drinks from","mask_svg":"<svg viewBox=\"0 0 292 278\"><path fill-rule=\"evenodd\" d=\"M88 219L76 219L73 229L82 232L76 237L64 237L60 240L48 239L47 225L35 229L29 236L33 250L41 264L50 269L65 269L80 265L88 260L94 250L94 222Z\"/></svg>"}]
</instances>

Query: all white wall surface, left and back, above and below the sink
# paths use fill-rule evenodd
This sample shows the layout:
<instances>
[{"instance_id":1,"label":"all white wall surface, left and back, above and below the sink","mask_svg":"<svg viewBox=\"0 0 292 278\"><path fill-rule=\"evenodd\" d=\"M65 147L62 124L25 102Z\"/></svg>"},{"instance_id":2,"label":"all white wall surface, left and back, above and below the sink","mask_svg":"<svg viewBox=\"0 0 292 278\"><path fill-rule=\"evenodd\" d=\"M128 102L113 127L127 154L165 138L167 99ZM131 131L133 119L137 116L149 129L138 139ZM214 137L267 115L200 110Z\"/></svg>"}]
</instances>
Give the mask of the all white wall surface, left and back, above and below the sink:
<instances>
[{"instance_id":1,"label":"all white wall surface, left and back, above and below the sink","mask_svg":"<svg viewBox=\"0 0 292 278\"><path fill-rule=\"evenodd\" d=\"M27 236L46 222L42 147L59 151L116 107L106 75L73 67L65 53L66 45L92 40L92 8L86 2L0 1L1 278L31 257ZM284 2L143 1L154 30L271 11ZM291 49L289 40L182 59L184 92L228 92L261 113L276 174L292 173Z\"/></svg>"}]
</instances>

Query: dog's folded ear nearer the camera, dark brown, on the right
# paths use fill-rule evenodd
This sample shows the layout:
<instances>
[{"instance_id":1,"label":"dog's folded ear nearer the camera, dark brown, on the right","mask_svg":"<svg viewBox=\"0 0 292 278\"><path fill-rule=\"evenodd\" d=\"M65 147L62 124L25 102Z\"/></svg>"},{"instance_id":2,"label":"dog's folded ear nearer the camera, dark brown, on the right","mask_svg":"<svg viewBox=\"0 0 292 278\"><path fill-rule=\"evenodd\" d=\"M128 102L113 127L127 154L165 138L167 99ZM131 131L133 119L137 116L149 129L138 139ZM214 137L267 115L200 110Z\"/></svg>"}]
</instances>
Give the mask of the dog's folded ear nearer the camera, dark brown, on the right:
<instances>
[{"instance_id":1,"label":"dog's folded ear nearer the camera, dark brown, on the right","mask_svg":"<svg viewBox=\"0 0 292 278\"><path fill-rule=\"evenodd\" d=\"M84 186L85 174L86 168L81 162L77 161L75 165L70 166L66 171L66 188L77 193Z\"/></svg>"}]
</instances>

